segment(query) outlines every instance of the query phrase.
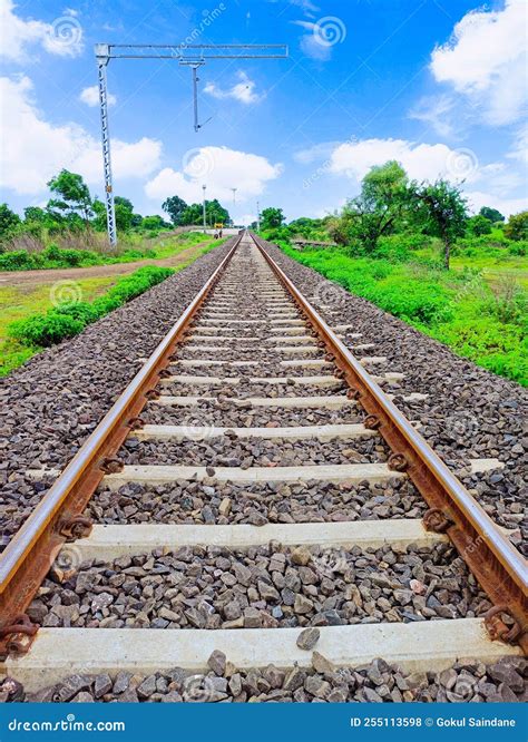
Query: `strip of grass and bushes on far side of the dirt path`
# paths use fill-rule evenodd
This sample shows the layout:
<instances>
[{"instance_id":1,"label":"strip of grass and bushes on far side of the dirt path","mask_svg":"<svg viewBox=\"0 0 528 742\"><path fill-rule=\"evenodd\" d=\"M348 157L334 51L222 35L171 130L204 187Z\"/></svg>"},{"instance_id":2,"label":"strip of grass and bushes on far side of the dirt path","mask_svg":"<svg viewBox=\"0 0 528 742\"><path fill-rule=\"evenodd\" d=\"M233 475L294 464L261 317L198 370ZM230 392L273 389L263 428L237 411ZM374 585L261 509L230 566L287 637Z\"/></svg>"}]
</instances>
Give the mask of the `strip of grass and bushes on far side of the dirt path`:
<instances>
[{"instance_id":1,"label":"strip of grass and bushes on far side of the dirt path","mask_svg":"<svg viewBox=\"0 0 528 742\"><path fill-rule=\"evenodd\" d=\"M199 232L186 232L178 235L162 234L155 240L129 235L115 254L104 254L77 247L68 250L51 244L41 252L29 253L25 250L18 250L0 254L0 271L89 267L91 265L133 263L146 258L164 260L175 257L201 243L208 245L211 242L211 235ZM213 243L217 245L218 241L213 241Z\"/></svg>"}]
</instances>

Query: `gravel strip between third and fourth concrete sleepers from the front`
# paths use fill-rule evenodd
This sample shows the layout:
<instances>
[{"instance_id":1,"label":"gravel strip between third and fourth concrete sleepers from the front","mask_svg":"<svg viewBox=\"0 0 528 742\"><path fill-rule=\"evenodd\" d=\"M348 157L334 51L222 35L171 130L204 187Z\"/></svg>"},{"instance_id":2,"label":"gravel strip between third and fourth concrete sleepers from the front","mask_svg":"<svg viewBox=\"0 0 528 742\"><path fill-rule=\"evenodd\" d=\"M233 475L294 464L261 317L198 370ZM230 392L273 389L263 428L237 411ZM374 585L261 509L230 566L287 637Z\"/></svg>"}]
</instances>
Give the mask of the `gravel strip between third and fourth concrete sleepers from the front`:
<instances>
[{"instance_id":1,"label":"gravel strip between third and fourth concrete sleepers from the front","mask_svg":"<svg viewBox=\"0 0 528 742\"><path fill-rule=\"evenodd\" d=\"M238 439L223 436L182 442L130 438L118 453L124 463L180 463L213 467L291 467L320 463L387 461L390 450L381 438L346 441Z\"/></svg>"}]
</instances>

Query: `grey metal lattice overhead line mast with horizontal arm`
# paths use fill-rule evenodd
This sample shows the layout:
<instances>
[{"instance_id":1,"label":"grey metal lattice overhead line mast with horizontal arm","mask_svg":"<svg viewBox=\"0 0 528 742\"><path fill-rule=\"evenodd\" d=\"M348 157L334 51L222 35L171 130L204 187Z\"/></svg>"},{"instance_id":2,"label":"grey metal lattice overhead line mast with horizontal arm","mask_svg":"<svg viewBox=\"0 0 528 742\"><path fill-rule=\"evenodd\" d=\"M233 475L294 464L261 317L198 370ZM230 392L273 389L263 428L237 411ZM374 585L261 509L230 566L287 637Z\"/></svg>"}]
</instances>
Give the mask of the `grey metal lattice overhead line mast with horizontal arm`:
<instances>
[{"instance_id":1,"label":"grey metal lattice overhead line mast with horizontal arm","mask_svg":"<svg viewBox=\"0 0 528 742\"><path fill-rule=\"evenodd\" d=\"M99 105L101 118L102 164L105 176L105 199L108 226L108 241L117 245L116 212L114 205L114 183L111 174L110 133L108 128L107 67L110 59L174 59L179 65L190 67L193 72L194 129L198 131L197 69L208 59L286 59L284 43L96 43L96 61L99 80Z\"/></svg>"}]
</instances>

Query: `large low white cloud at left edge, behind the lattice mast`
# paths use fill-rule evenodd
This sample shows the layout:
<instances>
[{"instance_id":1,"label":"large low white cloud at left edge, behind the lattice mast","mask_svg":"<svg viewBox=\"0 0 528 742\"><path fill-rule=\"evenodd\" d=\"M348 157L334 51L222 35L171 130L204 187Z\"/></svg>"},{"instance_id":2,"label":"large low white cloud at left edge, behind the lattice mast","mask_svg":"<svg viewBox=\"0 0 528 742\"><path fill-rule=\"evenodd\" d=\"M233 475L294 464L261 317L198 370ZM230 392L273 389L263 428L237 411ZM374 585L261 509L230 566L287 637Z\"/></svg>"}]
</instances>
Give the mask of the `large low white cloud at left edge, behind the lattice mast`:
<instances>
[{"instance_id":1,"label":"large low white cloud at left edge, behind the lattice mast","mask_svg":"<svg viewBox=\"0 0 528 742\"><path fill-rule=\"evenodd\" d=\"M38 195L62 167L80 173L88 184L102 180L100 143L81 126L45 119L31 99L28 77L0 78L0 100L9 117L2 124L1 185L19 194ZM116 178L144 177L159 167L162 144L144 137L131 144L113 140Z\"/></svg>"}]
</instances>

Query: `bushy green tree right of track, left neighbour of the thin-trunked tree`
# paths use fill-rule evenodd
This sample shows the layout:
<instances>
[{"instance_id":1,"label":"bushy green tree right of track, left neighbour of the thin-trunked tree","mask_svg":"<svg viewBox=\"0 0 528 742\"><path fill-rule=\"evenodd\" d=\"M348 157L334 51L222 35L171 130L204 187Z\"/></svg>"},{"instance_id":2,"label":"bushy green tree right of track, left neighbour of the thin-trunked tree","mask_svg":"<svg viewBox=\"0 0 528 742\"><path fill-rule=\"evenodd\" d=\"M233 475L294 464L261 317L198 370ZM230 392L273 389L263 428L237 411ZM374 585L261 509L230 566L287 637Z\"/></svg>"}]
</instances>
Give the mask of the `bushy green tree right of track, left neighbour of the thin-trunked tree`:
<instances>
[{"instance_id":1,"label":"bushy green tree right of track, left neighbour of the thin-trunked tree","mask_svg":"<svg viewBox=\"0 0 528 742\"><path fill-rule=\"evenodd\" d=\"M373 252L381 236L403 224L408 206L405 170L395 160L389 160L369 170L360 195L348 202L338 222L330 221L330 234L339 244L356 244Z\"/></svg>"}]
</instances>

